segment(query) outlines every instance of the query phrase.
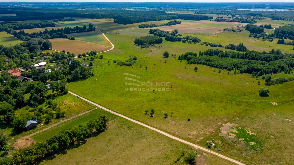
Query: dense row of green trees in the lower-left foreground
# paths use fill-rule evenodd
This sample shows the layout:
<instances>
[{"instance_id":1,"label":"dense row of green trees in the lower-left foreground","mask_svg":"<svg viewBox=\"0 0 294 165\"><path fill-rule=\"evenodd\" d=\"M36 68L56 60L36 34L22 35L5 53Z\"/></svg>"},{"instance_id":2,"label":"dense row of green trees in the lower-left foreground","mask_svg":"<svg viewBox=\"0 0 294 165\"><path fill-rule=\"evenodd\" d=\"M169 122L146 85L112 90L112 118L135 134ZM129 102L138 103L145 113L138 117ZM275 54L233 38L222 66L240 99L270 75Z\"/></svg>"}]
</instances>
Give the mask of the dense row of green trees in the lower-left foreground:
<instances>
[{"instance_id":1,"label":"dense row of green trees in the lower-left foreground","mask_svg":"<svg viewBox=\"0 0 294 165\"><path fill-rule=\"evenodd\" d=\"M56 151L66 149L70 145L83 142L86 138L99 134L107 128L108 122L108 116L101 115L86 125L79 125L78 127L59 131L44 142L38 142L17 150L12 156L13 164L35 164Z\"/></svg>"}]
</instances>

